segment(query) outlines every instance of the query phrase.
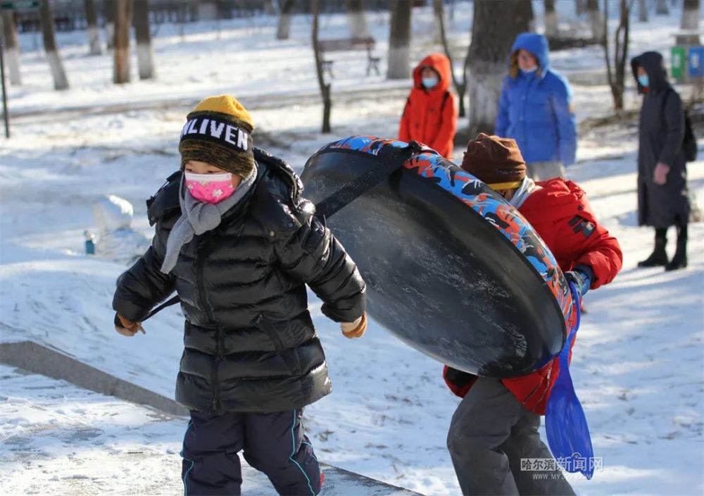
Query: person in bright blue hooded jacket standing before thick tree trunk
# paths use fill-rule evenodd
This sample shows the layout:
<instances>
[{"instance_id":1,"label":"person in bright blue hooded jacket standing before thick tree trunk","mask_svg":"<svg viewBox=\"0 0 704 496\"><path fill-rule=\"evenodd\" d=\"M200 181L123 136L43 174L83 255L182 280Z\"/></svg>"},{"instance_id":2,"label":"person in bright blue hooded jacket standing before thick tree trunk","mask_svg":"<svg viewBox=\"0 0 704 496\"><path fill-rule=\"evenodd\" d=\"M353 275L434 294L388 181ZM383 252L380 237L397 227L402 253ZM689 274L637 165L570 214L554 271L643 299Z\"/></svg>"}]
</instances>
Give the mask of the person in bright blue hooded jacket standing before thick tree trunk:
<instances>
[{"instance_id":1,"label":"person in bright blue hooded jacket standing before thick tree trunk","mask_svg":"<svg viewBox=\"0 0 704 496\"><path fill-rule=\"evenodd\" d=\"M496 118L496 135L516 140L534 180L564 176L577 153L572 89L550 68L548 52L543 35L516 37Z\"/></svg>"}]
</instances>

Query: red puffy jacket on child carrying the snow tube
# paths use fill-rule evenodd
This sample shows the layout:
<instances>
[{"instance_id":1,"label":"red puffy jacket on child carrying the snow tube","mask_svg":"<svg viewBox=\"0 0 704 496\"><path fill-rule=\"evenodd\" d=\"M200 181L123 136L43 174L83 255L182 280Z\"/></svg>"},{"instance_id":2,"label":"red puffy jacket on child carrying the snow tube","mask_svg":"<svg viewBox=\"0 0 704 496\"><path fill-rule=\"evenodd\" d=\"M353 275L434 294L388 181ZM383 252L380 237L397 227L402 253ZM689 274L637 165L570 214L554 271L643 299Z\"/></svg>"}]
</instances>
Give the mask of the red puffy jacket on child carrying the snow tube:
<instances>
[{"instance_id":1,"label":"red puffy jacket on child carrying the snow tube","mask_svg":"<svg viewBox=\"0 0 704 496\"><path fill-rule=\"evenodd\" d=\"M536 185L540 189L534 191L518 211L543 238L562 271L586 265L594 273L591 289L610 283L621 270L621 248L616 238L596 222L582 188L561 178L536 182ZM570 358L573 345L574 341L570 343ZM502 382L524 407L543 415L559 373L560 361L555 357L527 376ZM477 379L448 366L443 377L452 392L460 397L467 394Z\"/></svg>"}]
</instances>

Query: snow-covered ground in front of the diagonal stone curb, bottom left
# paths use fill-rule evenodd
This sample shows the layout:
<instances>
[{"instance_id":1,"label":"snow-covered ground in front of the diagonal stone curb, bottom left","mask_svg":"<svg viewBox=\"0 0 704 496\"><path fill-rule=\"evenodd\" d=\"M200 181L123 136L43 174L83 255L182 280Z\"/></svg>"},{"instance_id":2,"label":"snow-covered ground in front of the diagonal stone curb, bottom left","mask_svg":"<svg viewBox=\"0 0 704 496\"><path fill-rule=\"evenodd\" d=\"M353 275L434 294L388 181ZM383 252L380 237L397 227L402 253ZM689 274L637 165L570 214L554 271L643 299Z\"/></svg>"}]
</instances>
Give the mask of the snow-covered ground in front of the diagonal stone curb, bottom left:
<instances>
[{"instance_id":1,"label":"snow-covered ground in front of the diagonal stone curb, bottom left","mask_svg":"<svg viewBox=\"0 0 704 496\"><path fill-rule=\"evenodd\" d=\"M27 471L27 477L2 481L4 495L182 492L180 459L173 456L181 450L182 419L4 365L0 380L6 448L0 466ZM323 470L326 495L415 494L327 465ZM243 479L246 495L276 495L268 478L246 464Z\"/></svg>"}]
</instances>

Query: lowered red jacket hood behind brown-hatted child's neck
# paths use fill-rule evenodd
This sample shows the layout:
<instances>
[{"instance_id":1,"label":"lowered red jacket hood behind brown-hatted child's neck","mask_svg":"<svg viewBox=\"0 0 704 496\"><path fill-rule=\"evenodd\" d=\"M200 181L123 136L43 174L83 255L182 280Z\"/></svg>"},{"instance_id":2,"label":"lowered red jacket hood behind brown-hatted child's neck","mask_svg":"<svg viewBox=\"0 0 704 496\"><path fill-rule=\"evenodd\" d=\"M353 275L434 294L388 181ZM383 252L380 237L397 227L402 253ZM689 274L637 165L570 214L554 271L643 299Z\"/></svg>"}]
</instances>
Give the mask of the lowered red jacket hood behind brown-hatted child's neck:
<instances>
[{"instance_id":1,"label":"lowered red jacket hood behind brown-hatted child's neck","mask_svg":"<svg viewBox=\"0 0 704 496\"><path fill-rule=\"evenodd\" d=\"M582 203L584 190L570 180L553 178L535 184L539 188L530 194L519 209L524 216L529 217L529 212L535 210L540 218L553 221L564 217L565 211L574 211L576 205Z\"/></svg>"}]
</instances>

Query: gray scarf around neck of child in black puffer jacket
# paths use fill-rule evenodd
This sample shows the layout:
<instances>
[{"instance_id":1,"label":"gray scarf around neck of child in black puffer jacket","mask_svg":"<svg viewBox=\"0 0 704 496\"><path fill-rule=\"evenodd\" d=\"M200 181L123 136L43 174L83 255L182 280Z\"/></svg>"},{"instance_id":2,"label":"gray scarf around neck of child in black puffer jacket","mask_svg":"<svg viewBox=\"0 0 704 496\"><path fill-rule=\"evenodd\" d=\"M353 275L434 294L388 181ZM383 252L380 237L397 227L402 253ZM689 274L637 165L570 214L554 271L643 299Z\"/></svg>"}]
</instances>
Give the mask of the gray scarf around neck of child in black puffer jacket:
<instances>
[{"instance_id":1,"label":"gray scarf around neck of child in black puffer jacket","mask_svg":"<svg viewBox=\"0 0 704 496\"><path fill-rule=\"evenodd\" d=\"M249 175L249 178L239 183L237 190L234 190L230 198L216 204L199 202L190 194L184 194L184 179L182 179L179 191L182 214L174 224L166 241L166 254L164 255L164 263L161 264L161 271L165 274L172 271L178 261L181 247L190 242L194 235L201 235L217 228L222 221L222 215L244 198L244 195L251 190L256 178L255 166L253 173Z\"/></svg>"}]
</instances>

